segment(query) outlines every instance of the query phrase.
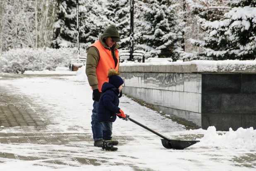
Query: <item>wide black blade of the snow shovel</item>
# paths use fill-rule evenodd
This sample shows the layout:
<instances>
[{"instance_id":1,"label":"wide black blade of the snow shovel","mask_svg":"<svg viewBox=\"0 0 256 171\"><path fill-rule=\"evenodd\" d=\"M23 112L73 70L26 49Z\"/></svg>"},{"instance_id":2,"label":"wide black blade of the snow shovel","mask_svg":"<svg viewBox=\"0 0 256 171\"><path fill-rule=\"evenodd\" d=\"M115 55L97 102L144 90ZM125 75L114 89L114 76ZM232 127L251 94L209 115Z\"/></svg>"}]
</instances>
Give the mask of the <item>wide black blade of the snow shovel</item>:
<instances>
[{"instance_id":1,"label":"wide black blade of the snow shovel","mask_svg":"<svg viewBox=\"0 0 256 171\"><path fill-rule=\"evenodd\" d=\"M162 145L167 149L185 149L191 145L194 145L200 141L195 140L162 140Z\"/></svg>"}]
</instances>

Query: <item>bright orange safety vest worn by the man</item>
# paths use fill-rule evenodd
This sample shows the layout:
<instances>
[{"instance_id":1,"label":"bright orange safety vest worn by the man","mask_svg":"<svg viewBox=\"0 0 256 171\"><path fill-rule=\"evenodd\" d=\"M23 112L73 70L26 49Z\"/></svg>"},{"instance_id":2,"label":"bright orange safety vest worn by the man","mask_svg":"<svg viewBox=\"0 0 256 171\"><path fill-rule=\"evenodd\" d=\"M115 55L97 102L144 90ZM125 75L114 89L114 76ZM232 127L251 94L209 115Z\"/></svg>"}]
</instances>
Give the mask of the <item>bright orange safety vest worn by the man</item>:
<instances>
[{"instance_id":1,"label":"bright orange safety vest worn by the man","mask_svg":"<svg viewBox=\"0 0 256 171\"><path fill-rule=\"evenodd\" d=\"M99 51L99 63L96 68L96 75L98 79L98 89L101 92L101 87L104 82L109 82L108 78L108 71L109 69L113 68L116 71L118 70L119 66L119 57L118 57L118 50L116 49L116 58L117 58L117 65L115 67L115 61L113 59L111 50L104 48L100 41L96 41L92 44L92 46L96 47Z\"/></svg>"}]
</instances>

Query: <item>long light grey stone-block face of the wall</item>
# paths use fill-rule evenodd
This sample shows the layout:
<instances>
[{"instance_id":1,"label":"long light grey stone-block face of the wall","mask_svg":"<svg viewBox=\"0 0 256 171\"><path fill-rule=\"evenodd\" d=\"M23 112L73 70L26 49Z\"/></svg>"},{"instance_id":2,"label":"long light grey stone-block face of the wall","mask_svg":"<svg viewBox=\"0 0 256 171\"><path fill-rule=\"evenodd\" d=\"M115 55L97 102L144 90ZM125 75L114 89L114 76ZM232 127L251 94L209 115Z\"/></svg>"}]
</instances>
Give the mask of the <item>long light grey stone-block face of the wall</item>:
<instances>
[{"instance_id":1,"label":"long light grey stone-block face of the wall","mask_svg":"<svg viewBox=\"0 0 256 171\"><path fill-rule=\"evenodd\" d=\"M201 74L121 72L121 77L124 94L201 128Z\"/></svg>"}]
</instances>

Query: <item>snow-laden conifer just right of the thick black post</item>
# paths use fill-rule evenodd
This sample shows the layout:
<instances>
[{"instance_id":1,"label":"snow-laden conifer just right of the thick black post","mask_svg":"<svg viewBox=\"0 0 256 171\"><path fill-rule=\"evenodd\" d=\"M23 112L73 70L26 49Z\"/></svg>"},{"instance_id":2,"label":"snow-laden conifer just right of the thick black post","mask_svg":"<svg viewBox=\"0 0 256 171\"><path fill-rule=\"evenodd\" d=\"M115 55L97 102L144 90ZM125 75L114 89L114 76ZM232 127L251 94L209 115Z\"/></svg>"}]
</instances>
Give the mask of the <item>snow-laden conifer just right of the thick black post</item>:
<instances>
[{"instance_id":1,"label":"snow-laden conifer just right of the thick black post","mask_svg":"<svg viewBox=\"0 0 256 171\"><path fill-rule=\"evenodd\" d=\"M146 51L146 58L179 58L182 22L175 7L170 0L136 1L135 48Z\"/></svg>"}]
</instances>

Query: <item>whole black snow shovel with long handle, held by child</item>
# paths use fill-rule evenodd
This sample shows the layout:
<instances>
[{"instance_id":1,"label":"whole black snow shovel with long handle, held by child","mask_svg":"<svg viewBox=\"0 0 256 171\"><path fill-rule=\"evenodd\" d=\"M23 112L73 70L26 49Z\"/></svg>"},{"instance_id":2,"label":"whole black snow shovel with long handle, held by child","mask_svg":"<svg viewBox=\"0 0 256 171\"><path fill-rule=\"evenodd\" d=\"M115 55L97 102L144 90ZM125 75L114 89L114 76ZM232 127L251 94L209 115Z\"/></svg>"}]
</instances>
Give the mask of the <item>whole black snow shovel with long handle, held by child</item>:
<instances>
[{"instance_id":1,"label":"whole black snow shovel with long handle, held by child","mask_svg":"<svg viewBox=\"0 0 256 171\"><path fill-rule=\"evenodd\" d=\"M154 133L155 135L158 135L159 137L163 138L162 145L167 149L185 149L186 147L189 147L191 145L194 145L200 141L196 140L170 140L167 137L164 137L163 135L159 134L158 132L155 132L154 130L147 128L145 125L142 125L141 123L138 123L136 120L133 120L130 118L130 116L126 115L126 118L123 118L124 120L130 120L133 123L141 126L142 128L145 128L146 130L149 130L150 132Z\"/></svg>"}]
</instances>

